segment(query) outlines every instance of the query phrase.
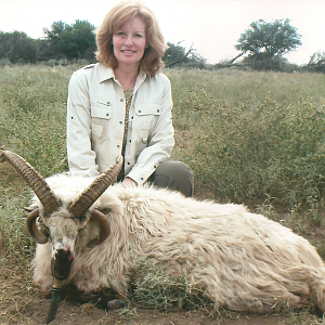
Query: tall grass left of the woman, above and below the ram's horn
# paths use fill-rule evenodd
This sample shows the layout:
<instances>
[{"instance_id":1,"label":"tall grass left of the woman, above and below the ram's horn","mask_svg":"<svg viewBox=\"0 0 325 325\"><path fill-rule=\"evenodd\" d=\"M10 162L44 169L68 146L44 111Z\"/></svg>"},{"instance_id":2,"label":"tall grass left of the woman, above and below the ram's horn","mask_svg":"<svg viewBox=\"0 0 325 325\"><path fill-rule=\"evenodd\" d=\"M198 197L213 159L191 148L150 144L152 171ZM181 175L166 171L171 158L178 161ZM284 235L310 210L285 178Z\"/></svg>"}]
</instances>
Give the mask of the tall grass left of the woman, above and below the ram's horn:
<instances>
[{"instance_id":1,"label":"tall grass left of the woman, above and below the ram's horn","mask_svg":"<svg viewBox=\"0 0 325 325\"><path fill-rule=\"evenodd\" d=\"M68 68L0 68L0 145L16 152L44 177L67 169L65 102ZM0 247L2 256L32 251L25 230L31 191L6 164L0 165ZM0 256L1 256L0 251Z\"/></svg>"}]
</instances>

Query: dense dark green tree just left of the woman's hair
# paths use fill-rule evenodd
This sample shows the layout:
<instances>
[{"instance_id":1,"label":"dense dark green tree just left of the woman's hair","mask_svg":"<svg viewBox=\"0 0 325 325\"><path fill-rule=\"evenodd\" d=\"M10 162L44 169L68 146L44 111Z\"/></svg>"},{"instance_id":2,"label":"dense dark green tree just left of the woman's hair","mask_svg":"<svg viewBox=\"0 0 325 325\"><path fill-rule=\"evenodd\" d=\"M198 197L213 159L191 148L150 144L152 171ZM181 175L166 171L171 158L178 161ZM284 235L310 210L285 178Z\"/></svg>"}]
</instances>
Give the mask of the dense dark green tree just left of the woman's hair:
<instances>
[{"instance_id":1,"label":"dense dark green tree just left of the woman's hair","mask_svg":"<svg viewBox=\"0 0 325 325\"><path fill-rule=\"evenodd\" d=\"M62 21L54 22L51 30L44 28L48 49L44 56L48 58L91 60L96 49L95 27L87 21L76 21L68 25Z\"/></svg>"}]
</instances>

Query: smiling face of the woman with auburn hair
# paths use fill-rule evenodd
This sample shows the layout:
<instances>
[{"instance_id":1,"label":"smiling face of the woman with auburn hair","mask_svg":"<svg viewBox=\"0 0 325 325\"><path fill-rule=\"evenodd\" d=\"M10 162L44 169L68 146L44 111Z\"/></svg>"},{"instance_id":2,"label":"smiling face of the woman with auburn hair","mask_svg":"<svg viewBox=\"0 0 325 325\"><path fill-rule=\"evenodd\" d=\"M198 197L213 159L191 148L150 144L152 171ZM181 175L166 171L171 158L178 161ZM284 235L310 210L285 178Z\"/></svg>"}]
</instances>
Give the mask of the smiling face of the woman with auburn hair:
<instances>
[{"instance_id":1,"label":"smiling face of the woman with auburn hair","mask_svg":"<svg viewBox=\"0 0 325 325\"><path fill-rule=\"evenodd\" d=\"M127 22L113 35L114 54L118 65L138 65L146 48L145 24L140 17Z\"/></svg>"}]
</instances>

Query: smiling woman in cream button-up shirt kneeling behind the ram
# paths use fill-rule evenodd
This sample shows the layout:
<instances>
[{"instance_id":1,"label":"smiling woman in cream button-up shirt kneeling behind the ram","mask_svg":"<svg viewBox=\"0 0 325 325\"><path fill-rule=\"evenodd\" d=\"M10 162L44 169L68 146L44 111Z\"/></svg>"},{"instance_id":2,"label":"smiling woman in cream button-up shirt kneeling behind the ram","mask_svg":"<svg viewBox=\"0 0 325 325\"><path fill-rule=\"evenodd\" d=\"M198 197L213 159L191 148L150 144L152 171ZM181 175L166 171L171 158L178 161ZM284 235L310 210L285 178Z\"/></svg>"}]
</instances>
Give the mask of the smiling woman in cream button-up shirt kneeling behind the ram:
<instances>
[{"instance_id":1,"label":"smiling woman in cream button-up shirt kneeling behind the ram","mask_svg":"<svg viewBox=\"0 0 325 325\"><path fill-rule=\"evenodd\" d=\"M165 161L174 140L171 89L159 73L166 42L150 9L125 1L105 16L96 34L99 63L72 76L67 101L69 169L99 176L122 154L118 181L152 182L193 195L193 173ZM165 162L162 162L165 161Z\"/></svg>"}]
</instances>

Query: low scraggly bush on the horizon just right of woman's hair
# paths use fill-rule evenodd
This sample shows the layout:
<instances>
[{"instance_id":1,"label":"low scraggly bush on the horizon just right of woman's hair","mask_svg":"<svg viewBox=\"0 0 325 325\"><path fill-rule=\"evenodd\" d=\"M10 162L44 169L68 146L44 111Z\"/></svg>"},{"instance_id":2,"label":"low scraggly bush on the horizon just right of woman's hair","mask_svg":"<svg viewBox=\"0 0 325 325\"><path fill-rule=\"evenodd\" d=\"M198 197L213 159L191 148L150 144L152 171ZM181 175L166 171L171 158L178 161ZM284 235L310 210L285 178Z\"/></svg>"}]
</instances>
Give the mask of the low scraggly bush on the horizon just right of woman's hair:
<instances>
[{"instance_id":1,"label":"low scraggly bush on the horizon just right of woman's hair","mask_svg":"<svg viewBox=\"0 0 325 325\"><path fill-rule=\"evenodd\" d=\"M162 57L166 67L174 66L191 66L191 67L203 67L206 58L196 53L193 46L186 50L181 46L181 41L177 44L168 42L168 49Z\"/></svg>"}]
</instances>

